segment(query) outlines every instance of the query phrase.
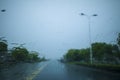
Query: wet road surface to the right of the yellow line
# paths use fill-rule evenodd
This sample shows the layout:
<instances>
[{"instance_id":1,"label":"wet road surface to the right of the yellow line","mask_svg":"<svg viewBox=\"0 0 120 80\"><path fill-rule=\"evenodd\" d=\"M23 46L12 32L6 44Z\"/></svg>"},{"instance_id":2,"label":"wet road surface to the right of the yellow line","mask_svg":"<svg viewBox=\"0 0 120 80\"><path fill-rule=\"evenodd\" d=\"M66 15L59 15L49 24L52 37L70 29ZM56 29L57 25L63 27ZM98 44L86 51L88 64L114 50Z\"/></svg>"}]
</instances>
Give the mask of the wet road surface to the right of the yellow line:
<instances>
[{"instance_id":1,"label":"wet road surface to the right of the yellow line","mask_svg":"<svg viewBox=\"0 0 120 80\"><path fill-rule=\"evenodd\" d=\"M120 75L51 61L33 80L120 80Z\"/></svg>"}]
</instances>

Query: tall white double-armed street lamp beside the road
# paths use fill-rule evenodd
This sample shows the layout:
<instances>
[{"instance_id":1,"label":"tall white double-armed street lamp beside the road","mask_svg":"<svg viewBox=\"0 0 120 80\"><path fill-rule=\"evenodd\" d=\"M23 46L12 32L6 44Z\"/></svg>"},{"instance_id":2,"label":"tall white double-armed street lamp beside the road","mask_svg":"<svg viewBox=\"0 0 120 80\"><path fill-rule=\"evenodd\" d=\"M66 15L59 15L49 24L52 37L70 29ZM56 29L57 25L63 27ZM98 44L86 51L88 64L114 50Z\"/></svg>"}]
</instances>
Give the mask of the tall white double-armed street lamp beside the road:
<instances>
[{"instance_id":1,"label":"tall white double-armed street lamp beside the road","mask_svg":"<svg viewBox=\"0 0 120 80\"><path fill-rule=\"evenodd\" d=\"M90 63L93 63L93 52L92 52L92 42L91 42L91 17L98 16L97 14L87 15L84 13L80 13L81 16L86 16L88 18L88 26L89 26L89 44L90 44Z\"/></svg>"}]
</instances>

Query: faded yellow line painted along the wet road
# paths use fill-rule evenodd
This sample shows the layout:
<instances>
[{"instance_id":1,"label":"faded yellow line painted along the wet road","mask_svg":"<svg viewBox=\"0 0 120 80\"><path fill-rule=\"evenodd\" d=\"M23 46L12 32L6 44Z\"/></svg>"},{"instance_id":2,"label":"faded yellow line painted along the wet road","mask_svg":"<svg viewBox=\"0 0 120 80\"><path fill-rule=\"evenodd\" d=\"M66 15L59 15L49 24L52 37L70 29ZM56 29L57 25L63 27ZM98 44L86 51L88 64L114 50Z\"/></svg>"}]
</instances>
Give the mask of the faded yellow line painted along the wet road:
<instances>
[{"instance_id":1,"label":"faded yellow line painted along the wet road","mask_svg":"<svg viewBox=\"0 0 120 80\"><path fill-rule=\"evenodd\" d=\"M48 63L44 64L43 66L41 66L37 70L33 71L32 74L30 74L29 76L27 76L25 78L25 80L33 80L47 65L48 65Z\"/></svg>"}]
</instances>

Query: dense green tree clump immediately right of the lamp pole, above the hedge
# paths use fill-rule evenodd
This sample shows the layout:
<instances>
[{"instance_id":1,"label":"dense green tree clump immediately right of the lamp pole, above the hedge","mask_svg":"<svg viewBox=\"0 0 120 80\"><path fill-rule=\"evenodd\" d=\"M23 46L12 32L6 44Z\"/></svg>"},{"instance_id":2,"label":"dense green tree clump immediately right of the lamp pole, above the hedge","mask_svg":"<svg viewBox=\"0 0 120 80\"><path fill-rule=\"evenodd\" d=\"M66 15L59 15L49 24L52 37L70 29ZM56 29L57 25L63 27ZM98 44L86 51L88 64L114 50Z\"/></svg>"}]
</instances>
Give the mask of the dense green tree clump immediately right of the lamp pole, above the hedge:
<instances>
[{"instance_id":1,"label":"dense green tree clump immediately right of the lamp pole, above the hedge","mask_svg":"<svg viewBox=\"0 0 120 80\"><path fill-rule=\"evenodd\" d=\"M92 44L93 58L98 62L115 62L119 58L119 49L115 44L96 42Z\"/></svg>"}]
</instances>

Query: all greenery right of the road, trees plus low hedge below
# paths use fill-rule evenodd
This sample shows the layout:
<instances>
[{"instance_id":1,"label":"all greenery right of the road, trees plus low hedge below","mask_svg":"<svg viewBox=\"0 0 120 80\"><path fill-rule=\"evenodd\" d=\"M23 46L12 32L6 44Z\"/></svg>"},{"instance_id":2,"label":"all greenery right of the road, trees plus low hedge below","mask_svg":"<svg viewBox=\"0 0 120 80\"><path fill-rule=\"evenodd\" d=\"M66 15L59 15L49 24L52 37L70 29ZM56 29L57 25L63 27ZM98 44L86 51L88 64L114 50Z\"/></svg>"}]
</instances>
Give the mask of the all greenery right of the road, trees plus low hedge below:
<instances>
[{"instance_id":1,"label":"all greenery right of the road, trees plus low hedge below","mask_svg":"<svg viewBox=\"0 0 120 80\"><path fill-rule=\"evenodd\" d=\"M70 64L120 72L119 47L120 33L117 38L117 44L108 44L105 42L92 43L93 64L90 63L90 48L70 49L61 61Z\"/></svg>"}]
</instances>

